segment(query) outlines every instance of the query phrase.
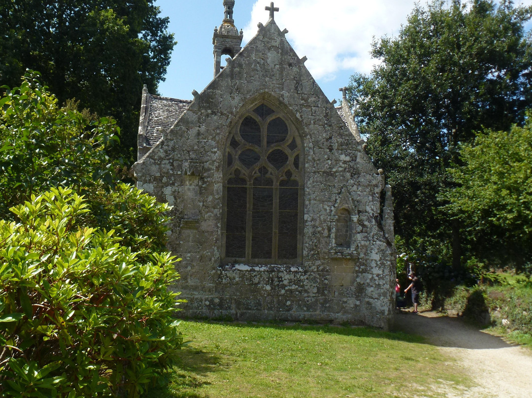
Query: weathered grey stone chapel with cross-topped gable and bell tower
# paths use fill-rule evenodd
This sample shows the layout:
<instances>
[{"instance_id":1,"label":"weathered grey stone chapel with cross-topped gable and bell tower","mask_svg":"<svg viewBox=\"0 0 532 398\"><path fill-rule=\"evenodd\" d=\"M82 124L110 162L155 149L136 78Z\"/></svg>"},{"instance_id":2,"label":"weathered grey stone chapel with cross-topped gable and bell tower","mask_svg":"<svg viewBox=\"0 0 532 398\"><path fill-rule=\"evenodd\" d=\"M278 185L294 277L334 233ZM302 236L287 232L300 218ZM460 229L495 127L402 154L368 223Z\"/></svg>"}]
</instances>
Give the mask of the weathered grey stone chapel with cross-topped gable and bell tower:
<instances>
[{"instance_id":1,"label":"weathered grey stone chapel with cross-topped gable and bell tower","mask_svg":"<svg viewBox=\"0 0 532 398\"><path fill-rule=\"evenodd\" d=\"M349 322L394 313L392 193L343 89L335 107L275 22L242 48L223 0L214 78L192 101L143 90L137 186L173 206L180 316ZM221 57L227 65L221 67Z\"/></svg>"}]
</instances>

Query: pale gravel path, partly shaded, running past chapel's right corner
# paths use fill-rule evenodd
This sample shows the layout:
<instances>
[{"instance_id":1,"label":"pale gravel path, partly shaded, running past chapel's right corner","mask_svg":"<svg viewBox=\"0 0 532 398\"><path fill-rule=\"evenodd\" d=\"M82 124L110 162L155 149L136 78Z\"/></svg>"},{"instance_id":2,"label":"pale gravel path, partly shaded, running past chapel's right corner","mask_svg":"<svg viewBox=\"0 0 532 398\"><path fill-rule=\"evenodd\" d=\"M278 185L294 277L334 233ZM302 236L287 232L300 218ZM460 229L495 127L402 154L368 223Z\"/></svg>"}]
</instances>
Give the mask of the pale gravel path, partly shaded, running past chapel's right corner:
<instances>
[{"instance_id":1,"label":"pale gravel path, partly shaded, running past chapel's right corner","mask_svg":"<svg viewBox=\"0 0 532 398\"><path fill-rule=\"evenodd\" d=\"M459 395L449 392L448 397L532 398L532 351L432 311L397 314L395 328L426 337L458 359L477 383Z\"/></svg>"}]
</instances>

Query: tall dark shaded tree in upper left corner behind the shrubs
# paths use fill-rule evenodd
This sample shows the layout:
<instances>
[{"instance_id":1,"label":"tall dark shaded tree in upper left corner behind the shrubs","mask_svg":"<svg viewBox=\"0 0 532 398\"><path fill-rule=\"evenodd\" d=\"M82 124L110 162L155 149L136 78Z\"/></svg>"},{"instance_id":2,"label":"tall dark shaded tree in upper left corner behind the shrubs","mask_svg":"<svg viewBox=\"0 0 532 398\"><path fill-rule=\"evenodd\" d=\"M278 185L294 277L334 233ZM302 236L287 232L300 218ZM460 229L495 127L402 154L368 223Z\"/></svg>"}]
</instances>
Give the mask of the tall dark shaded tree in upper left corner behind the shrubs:
<instances>
[{"instance_id":1,"label":"tall dark shaded tree in upper left corner behind the shrubs","mask_svg":"<svg viewBox=\"0 0 532 398\"><path fill-rule=\"evenodd\" d=\"M0 0L0 84L15 86L26 68L61 103L76 98L122 127L132 157L143 84L164 80L175 44L155 0Z\"/></svg>"}]
</instances>

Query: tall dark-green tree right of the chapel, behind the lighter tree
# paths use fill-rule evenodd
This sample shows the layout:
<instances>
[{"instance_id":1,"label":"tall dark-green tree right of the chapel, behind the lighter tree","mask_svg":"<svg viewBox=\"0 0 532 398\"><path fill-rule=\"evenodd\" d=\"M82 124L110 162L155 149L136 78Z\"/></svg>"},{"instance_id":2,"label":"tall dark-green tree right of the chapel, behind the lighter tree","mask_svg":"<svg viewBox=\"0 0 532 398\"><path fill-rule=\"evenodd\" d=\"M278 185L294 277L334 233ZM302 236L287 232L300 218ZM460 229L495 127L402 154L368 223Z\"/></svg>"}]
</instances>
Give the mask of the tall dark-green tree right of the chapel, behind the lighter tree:
<instances>
[{"instance_id":1,"label":"tall dark-green tree right of the chapel, behind the lighter tree","mask_svg":"<svg viewBox=\"0 0 532 398\"><path fill-rule=\"evenodd\" d=\"M417 5L398 37L372 45L380 61L352 77L348 98L370 155L394 187L396 233L407 248L452 251L460 225L438 209L445 169L482 126L522 123L532 101L532 7L511 1ZM438 247L439 246L439 247ZM441 253L440 253L441 254Z\"/></svg>"}]
</instances>

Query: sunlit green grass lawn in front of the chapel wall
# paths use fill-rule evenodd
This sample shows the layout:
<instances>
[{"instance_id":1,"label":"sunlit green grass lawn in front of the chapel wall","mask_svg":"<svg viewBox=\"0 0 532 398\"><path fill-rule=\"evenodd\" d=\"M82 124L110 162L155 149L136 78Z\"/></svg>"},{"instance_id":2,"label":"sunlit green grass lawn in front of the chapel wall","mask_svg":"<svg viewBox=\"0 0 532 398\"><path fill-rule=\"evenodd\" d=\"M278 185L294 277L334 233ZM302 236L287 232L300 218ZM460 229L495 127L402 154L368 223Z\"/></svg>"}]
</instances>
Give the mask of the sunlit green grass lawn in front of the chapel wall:
<instances>
[{"instance_id":1,"label":"sunlit green grass lawn in front of the chapel wall","mask_svg":"<svg viewBox=\"0 0 532 398\"><path fill-rule=\"evenodd\" d=\"M443 397L469 386L417 336L367 328L186 321L168 383L145 398Z\"/></svg>"}]
</instances>

